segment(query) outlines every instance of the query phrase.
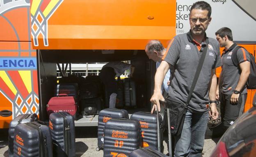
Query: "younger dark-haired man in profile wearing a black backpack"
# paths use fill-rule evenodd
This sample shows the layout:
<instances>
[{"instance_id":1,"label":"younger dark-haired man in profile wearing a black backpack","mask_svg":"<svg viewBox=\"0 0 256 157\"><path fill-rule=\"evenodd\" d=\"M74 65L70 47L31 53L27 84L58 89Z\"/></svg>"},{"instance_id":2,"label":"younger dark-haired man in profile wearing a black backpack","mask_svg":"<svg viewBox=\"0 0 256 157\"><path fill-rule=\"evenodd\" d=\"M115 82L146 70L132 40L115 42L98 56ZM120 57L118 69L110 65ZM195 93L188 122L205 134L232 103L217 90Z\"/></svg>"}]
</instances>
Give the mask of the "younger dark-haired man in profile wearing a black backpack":
<instances>
[{"instance_id":1,"label":"younger dark-haired man in profile wearing a black backpack","mask_svg":"<svg viewBox=\"0 0 256 157\"><path fill-rule=\"evenodd\" d=\"M250 57L246 49L238 49L238 68L231 59L232 50L237 46L233 43L231 29L223 27L215 35L220 47L225 47L221 59L222 71L216 98L221 102L223 125L227 129L242 114L244 109L247 98L246 81L250 74Z\"/></svg>"}]
</instances>

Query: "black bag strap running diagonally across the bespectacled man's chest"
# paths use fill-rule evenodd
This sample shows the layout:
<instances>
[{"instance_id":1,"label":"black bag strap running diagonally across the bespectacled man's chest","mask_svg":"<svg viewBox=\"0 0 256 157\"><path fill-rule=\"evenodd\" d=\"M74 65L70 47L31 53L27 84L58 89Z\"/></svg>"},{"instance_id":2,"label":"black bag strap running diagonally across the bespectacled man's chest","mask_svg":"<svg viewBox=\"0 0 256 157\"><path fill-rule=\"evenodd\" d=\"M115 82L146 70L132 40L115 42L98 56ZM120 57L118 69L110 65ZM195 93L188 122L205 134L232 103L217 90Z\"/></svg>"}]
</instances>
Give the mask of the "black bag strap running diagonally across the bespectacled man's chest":
<instances>
[{"instance_id":1,"label":"black bag strap running diagonally across the bespectacled man's chest","mask_svg":"<svg viewBox=\"0 0 256 157\"><path fill-rule=\"evenodd\" d=\"M197 71L196 71L196 74L195 74L195 76L194 76L194 79L193 79L191 88L190 88L190 93L189 93L188 96L187 96L187 102L186 102L186 104L185 104L185 107L186 107L186 108L187 108L187 106L188 106L188 103L190 102L192 93L193 93L193 91L194 91L194 87L195 87L196 84L197 84L197 80L198 80L199 74L200 74L201 69L202 69L202 66L203 66L203 61L204 61L204 58L206 57L206 52L207 52L207 49L208 49L208 44L209 44L209 40L208 40L208 38L206 38L206 46L203 48L203 53L202 53L202 55L201 55L201 57L200 57L199 64L198 64L198 66L197 66Z\"/></svg>"}]
</instances>

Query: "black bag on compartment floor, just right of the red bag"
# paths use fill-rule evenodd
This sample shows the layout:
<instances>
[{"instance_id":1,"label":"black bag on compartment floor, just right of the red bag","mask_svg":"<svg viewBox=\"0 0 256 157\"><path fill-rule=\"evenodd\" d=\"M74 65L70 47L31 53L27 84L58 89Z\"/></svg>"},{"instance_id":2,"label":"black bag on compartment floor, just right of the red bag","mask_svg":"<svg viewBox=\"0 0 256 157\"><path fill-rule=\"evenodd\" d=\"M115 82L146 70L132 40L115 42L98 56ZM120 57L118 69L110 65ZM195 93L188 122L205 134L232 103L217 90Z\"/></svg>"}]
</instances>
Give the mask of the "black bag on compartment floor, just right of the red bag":
<instances>
[{"instance_id":1,"label":"black bag on compartment floor, just right of the red bag","mask_svg":"<svg viewBox=\"0 0 256 157\"><path fill-rule=\"evenodd\" d=\"M95 116L102 109L102 98L95 97L80 100L81 114L86 116Z\"/></svg>"}]
</instances>

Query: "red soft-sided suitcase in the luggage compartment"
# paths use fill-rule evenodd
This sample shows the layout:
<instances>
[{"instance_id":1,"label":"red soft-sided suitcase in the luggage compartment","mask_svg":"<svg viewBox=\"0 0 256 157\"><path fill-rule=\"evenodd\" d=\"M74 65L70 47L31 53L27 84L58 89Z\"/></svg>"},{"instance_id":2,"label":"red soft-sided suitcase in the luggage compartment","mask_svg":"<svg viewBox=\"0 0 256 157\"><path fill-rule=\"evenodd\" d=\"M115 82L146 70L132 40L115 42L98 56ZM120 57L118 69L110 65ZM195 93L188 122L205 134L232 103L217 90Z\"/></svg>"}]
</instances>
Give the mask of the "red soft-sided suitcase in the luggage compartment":
<instances>
[{"instance_id":1,"label":"red soft-sided suitcase in the luggage compartment","mask_svg":"<svg viewBox=\"0 0 256 157\"><path fill-rule=\"evenodd\" d=\"M78 116L78 105L74 97L67 94L59 94L57 97L50 98L46 105L46 111L48 115L53 112L68 112L76 119Z\"/></svg>"}]
</instances>

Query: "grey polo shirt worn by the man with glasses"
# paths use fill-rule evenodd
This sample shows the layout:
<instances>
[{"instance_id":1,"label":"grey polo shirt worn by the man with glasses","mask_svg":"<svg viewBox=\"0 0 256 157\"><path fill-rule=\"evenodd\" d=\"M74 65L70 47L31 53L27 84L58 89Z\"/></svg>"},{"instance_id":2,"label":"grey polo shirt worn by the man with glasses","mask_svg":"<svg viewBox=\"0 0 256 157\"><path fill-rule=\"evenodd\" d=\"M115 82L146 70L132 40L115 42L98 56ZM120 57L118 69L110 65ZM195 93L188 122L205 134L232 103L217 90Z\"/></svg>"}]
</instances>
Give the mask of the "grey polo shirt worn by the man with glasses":
<instances>
[{"instance_id":1,"label":"grey polo shirt worn by the man with glasses","mask_svg":"<svg viewBox=\"0 0 256 157\"><path fill-rule=\"evenodd\" d=\"M188 106L192 113L208 111L211 70L221 66L219 43L213 38L208 39L206 57ZM174 66L174 76L168 94L183 103L187 101L202 49L206 46L206 42L202 42L201 45L192 39L190 32L176 35L171 40L171 45L166 51L167 54L163 57L166 62Z\"/></svg>"}]
</instances>

